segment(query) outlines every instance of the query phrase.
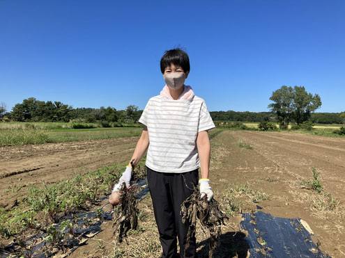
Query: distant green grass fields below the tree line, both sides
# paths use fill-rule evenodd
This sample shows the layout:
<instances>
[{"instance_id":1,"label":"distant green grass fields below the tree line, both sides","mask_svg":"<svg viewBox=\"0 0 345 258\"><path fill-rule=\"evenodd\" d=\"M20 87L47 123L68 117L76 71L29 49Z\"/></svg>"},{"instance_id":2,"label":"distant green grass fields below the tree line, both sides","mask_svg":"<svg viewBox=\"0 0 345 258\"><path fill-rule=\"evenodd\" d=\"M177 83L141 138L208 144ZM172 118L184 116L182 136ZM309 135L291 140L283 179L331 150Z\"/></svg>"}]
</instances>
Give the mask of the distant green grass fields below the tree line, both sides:
<instances>
[{"instance_id":1,"label":"distant green grass fields below the tree line, both sides","mask_svg":"<svg viewBox=\"0 0 345 258\"><path fill-rule=\"evenodd\" d=\"M28 145L42 143L62 143L77 140L98 140L118 137L139 136L141 127L102 128L100 124L89 125L89 129L72 129L73 123L66 122L1 122L0 147L11 145ZM257 129L259 122L243 122L250 129ZM137 124L136 124L137 125ZM334 134L342 124L316 124L312 131L295 130L296 133L319 136L344 137ZM291 128L291 126L289 126Z\"/></svg>"}]
</instances>

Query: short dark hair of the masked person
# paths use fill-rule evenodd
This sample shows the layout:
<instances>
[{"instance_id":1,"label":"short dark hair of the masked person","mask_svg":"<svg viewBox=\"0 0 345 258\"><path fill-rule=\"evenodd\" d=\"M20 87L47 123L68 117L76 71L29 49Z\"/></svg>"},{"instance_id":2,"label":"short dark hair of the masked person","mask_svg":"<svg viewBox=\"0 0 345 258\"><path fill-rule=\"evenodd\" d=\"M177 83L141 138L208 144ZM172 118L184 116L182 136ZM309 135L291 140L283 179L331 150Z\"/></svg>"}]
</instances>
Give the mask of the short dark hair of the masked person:
<instances>
[{"instance_id":1,"label":"short dark hair of the masked person","mask_svg":"<svg viewBox=\"0 0 345 258\"><path fill-rule=\"evenodd\" d=\"M164 55L160 59L160 70L164 74L165 68L171 65L181 66L184 72L190 72L190 58L188 54L181 48L176 47L164 52Z\"/></svg>"}]
</instances>

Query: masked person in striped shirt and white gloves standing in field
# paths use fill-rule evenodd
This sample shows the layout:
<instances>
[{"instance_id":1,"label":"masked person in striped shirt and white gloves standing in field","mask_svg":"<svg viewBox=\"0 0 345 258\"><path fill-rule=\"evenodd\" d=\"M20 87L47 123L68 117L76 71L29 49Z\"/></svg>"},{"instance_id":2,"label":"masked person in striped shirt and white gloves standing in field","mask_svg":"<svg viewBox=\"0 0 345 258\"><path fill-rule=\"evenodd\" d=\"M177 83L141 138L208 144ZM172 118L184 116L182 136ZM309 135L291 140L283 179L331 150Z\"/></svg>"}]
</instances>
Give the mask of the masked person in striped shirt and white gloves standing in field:
<instances>
[{"instance_id":1,"label":"masked person in striped shirt and white gloves standing in field","mask_svg":"<svg viewBox=\"0 0 345 258\"><path fill-rule=\"evenodd\" d=\"M151 97L139 122L144 124L141 137L132 155L136 166L146 155L148 188L153 202L155 221L160 234L162 257L197 257L195 235L185 250L188 223L182 223L181 204L197 186L199 168L200 197L210 201L209 161L210 139L208 130L215 127L204 99L194 95L192 87L184 82L190 73L190 61L183 49L164 52L160 69L166 85L160 95ZM128 164L113 191L123 184L130 187L132 166Z\"/></svg>"}]
</instances>

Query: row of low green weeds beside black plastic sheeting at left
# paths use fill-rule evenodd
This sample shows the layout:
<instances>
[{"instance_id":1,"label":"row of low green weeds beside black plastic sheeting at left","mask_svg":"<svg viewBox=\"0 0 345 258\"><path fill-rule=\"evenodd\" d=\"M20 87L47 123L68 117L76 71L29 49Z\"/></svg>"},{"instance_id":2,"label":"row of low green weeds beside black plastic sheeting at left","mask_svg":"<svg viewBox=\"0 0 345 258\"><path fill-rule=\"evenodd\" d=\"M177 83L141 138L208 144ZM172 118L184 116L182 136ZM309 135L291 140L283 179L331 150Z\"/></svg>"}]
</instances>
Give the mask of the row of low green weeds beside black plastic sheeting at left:
<instances>
[{"instance_id":1,"label":"row of low green weeds beside black plastic sheeting at left","mask_svg":"<svg viewBox=\"0 0 345 258\"><path fill-rule=\"evenodd\" d=\"M144 168L144 159L139 166ZM21 234L28 227L39 227L43 220L52 223L61 216L89 209L100 196L111 193L126 163L104 166L98 170L78 174L56 184L28 186L26 199L13 209L0 208L0 236L8 238ZM144 177L144 170L137 172Z\"/></svg>"}]
</instances>

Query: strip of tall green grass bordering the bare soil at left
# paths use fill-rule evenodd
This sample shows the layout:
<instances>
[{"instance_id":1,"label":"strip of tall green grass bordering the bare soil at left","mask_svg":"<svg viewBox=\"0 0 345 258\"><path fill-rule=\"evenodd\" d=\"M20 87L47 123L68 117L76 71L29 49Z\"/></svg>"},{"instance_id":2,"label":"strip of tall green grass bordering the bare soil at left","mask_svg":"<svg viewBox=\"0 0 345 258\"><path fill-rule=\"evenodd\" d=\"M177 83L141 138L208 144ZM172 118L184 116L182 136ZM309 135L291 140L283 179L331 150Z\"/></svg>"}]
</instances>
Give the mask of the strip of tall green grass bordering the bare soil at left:
<instances>
[{"instance_id":1,"label":"strip of tall green grass bordering the bare soil at left","mask_svg":"<svg viewBox=\"0 0 345 258\"><path fill-rule=\"evenodd\" d=\"M142 128L95 129L0 129L0 147L41 143L63 143L77 140L98 140L140 136Z\"/></svg>"}]
</instances>

